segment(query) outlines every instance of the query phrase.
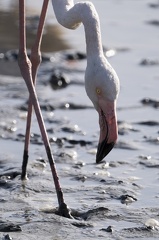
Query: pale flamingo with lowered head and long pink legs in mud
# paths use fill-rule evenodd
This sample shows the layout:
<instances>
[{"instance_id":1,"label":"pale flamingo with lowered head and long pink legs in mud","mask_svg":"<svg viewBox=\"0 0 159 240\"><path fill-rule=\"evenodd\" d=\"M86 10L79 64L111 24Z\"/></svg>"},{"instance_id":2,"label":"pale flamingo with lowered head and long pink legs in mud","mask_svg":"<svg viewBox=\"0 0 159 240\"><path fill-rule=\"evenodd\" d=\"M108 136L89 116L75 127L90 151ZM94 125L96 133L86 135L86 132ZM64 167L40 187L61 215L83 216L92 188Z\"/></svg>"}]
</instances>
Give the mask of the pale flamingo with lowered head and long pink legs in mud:
<instances>
[{"instance_id":1,"label":"pale flamingo with lowered head and long pink legs in mud","mask_svg":"<svg viewBox=\"0 0 159 240\"><path fill-rule=\"evenodd\" d=\"M35 90L37 70L41 62L40 47L48 1L49 0L44 0L43 2L37 36L31 50L31 58L29 59L26 52L25 0L19 0L18 63L21 75L25 80L30 95L21 178L22 180L27 178L26 168L28 163L28 148L33 106L54 179L59 204L59 213L62 216L71 218L70 210L64 202L63 192L60 186L53 154L51 152ZM96 163L99 163L112 150L118 136L116 100L119 94L119 79L115 70L104 56L100 21L94 5L88 1L74 4L73 0L52 0L52 5L57 21L65 28L76 29L81 23L84 25L87 51L85 89L88 97L99 114L100 135L96 154Z\"/></svg>"}]
</instances>

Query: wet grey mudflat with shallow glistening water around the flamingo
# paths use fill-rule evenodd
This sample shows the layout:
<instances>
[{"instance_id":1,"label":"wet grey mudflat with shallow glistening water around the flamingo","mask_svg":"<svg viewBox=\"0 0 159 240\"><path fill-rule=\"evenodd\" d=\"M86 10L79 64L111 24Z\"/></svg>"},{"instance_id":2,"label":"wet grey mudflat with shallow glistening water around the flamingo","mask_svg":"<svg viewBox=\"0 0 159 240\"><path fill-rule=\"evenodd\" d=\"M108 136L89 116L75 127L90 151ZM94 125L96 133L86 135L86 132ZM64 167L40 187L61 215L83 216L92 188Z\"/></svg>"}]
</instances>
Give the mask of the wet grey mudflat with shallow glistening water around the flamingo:
<instances>
[{"instance_id":1,"label":"wet grey mudflat with shallow glistening water around the flamingo","mask_svg":"<svg viewBox=\"0 0 159 240\"><path fill-rule=\"evenodd\" d=\"M56 193L35 116L29 180L20 180L28 93L18 72L16 51L3 52L0 61L3 70L0 75L1 239L159 238L159 49L154 40L158 26L148 24L157 19L158 7L150 1L129 4L134 11L138 8L140 14L141 9L145 11L142 20L137 15L133 24L132 14L127 23L132 24L131 28L126 26L128 33L142 29L137 35L141 42L133 42L129 37L123 42L119 35L120 44L113 38L114 47L105 47L121 79L121 93L117 108L118 142L101 164L95 164L98 116L84 90L84 50L77 47L78 50L47 53L39 69L37 93L64 198L74 219L56 214ZM117 11L115 3L107 5ZM123 2L118 7L126 12L127 5ZM111 19L108 22L109 29ZM121 19L116 31L123 23ZM153 43L148 42L149 35ZM2 67L6 65L10 66L8 74L7 68L4 72Z\"/></svg>"}]
</instances>

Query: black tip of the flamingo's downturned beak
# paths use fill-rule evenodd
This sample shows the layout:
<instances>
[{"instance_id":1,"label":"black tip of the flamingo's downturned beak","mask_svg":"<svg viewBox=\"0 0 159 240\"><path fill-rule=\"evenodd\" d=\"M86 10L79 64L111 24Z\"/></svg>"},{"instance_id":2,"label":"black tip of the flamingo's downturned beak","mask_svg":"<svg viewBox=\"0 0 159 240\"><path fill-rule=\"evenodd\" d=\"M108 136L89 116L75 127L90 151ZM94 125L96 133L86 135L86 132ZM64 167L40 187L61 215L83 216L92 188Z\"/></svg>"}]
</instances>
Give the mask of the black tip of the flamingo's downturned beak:
<instances>
[{"instance_id":1,"label":"black tip of the flamingo's downturned beak","mask_svg":"<svg viewBox=\"0 0 159 240\"><path fill-rule=\"evenodd\" d=\"M108 153L113 149L115 143L105 143L105 141L103 141L102 143L100 143L98 145L98 149L97 149L97 155L96 155L96 163L100 163L103 158L105 156L108 155Z\"/></svg>"}]
</instances>

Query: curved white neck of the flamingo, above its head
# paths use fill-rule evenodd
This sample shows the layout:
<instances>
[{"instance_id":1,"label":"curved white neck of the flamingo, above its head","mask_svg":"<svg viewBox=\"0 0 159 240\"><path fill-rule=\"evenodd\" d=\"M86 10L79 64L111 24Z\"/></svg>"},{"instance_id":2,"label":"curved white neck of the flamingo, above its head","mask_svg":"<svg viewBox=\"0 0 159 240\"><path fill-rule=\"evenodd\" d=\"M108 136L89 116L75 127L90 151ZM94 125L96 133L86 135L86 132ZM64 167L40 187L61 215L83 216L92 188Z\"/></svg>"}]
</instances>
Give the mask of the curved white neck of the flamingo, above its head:
<instances>
[{"instance_id":1,"label":"curved white neck of the flamingo, above its head","mask_svg":"<svg viewBox=\"0 0 159 240\"><path fill-rule=\"evenodd\" d=\"M91 2L52 0L58 22L66 28L75 29L82 22L85 29L87 60L103 54L98 14Z\"/></svg>"}]
</instances>

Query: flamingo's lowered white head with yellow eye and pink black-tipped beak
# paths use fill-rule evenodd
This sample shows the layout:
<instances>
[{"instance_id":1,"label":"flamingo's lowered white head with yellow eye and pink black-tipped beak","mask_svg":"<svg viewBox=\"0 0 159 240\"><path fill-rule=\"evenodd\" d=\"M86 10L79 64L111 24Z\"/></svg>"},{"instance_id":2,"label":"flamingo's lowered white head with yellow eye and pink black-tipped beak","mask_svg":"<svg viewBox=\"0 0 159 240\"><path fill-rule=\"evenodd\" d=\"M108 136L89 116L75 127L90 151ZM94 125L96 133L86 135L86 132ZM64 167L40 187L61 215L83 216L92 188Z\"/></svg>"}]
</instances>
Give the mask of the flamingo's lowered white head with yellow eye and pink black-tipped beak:
<instances>
[{"instance_id":1,"label":"flamingo's lowered white head with yellow eye and pink black-tipped beak","mask_svg":"<svg viewBox=\"0 0 159 240\"><path fill-rule=\"evenodd\" d=\"M95 65L96 66L96 65ZM99 143L96 163L99 163L112 150L118 137L116 99L119 93L119 79L106 61L94 67L87 66L85 88L99 115Z\"/></svg>"}]
</instances>

